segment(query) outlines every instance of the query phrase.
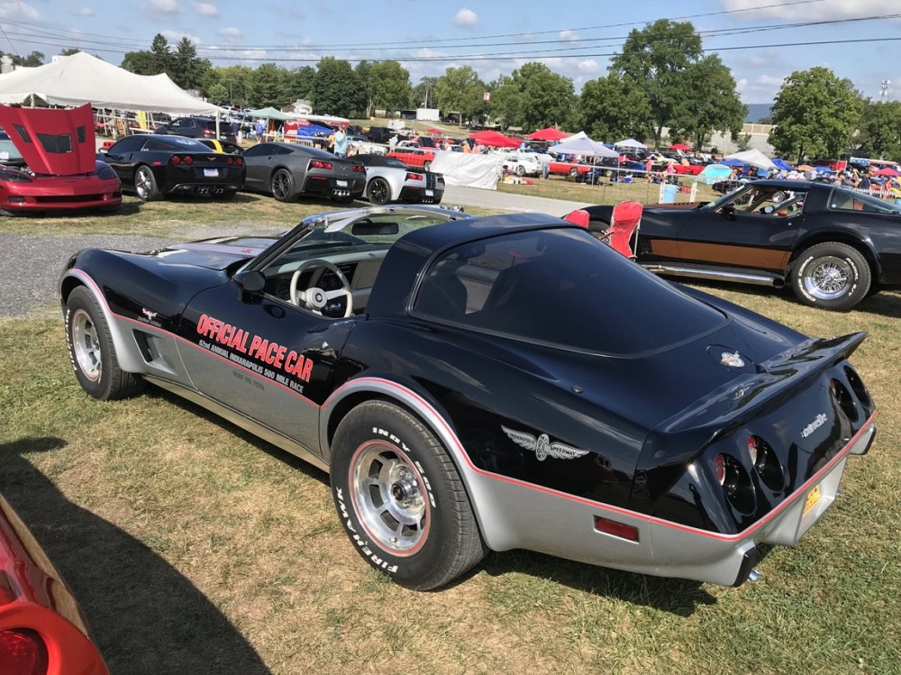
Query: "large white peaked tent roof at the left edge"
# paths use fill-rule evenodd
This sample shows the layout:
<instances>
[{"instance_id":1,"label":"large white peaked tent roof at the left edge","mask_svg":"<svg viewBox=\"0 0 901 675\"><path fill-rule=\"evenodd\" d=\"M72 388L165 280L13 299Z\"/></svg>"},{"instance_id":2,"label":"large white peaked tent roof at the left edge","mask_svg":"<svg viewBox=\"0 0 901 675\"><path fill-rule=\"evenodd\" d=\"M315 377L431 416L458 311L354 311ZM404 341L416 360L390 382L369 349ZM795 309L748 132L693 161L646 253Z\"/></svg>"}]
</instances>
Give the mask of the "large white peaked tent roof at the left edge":
<instances>
[{"instance_id":1,"label":"large white peaked tent roof at the left edge","mask_svg":"<svg viewBox=\"0 0 901 675\"><path fill-rule=\"evenodd\" d=\"M38 68L0 75L0 103L84 105L151 113L211 114L219 108L191 96L165 73L135 75L83 51Z\"/></svg>"}]
</instances>

